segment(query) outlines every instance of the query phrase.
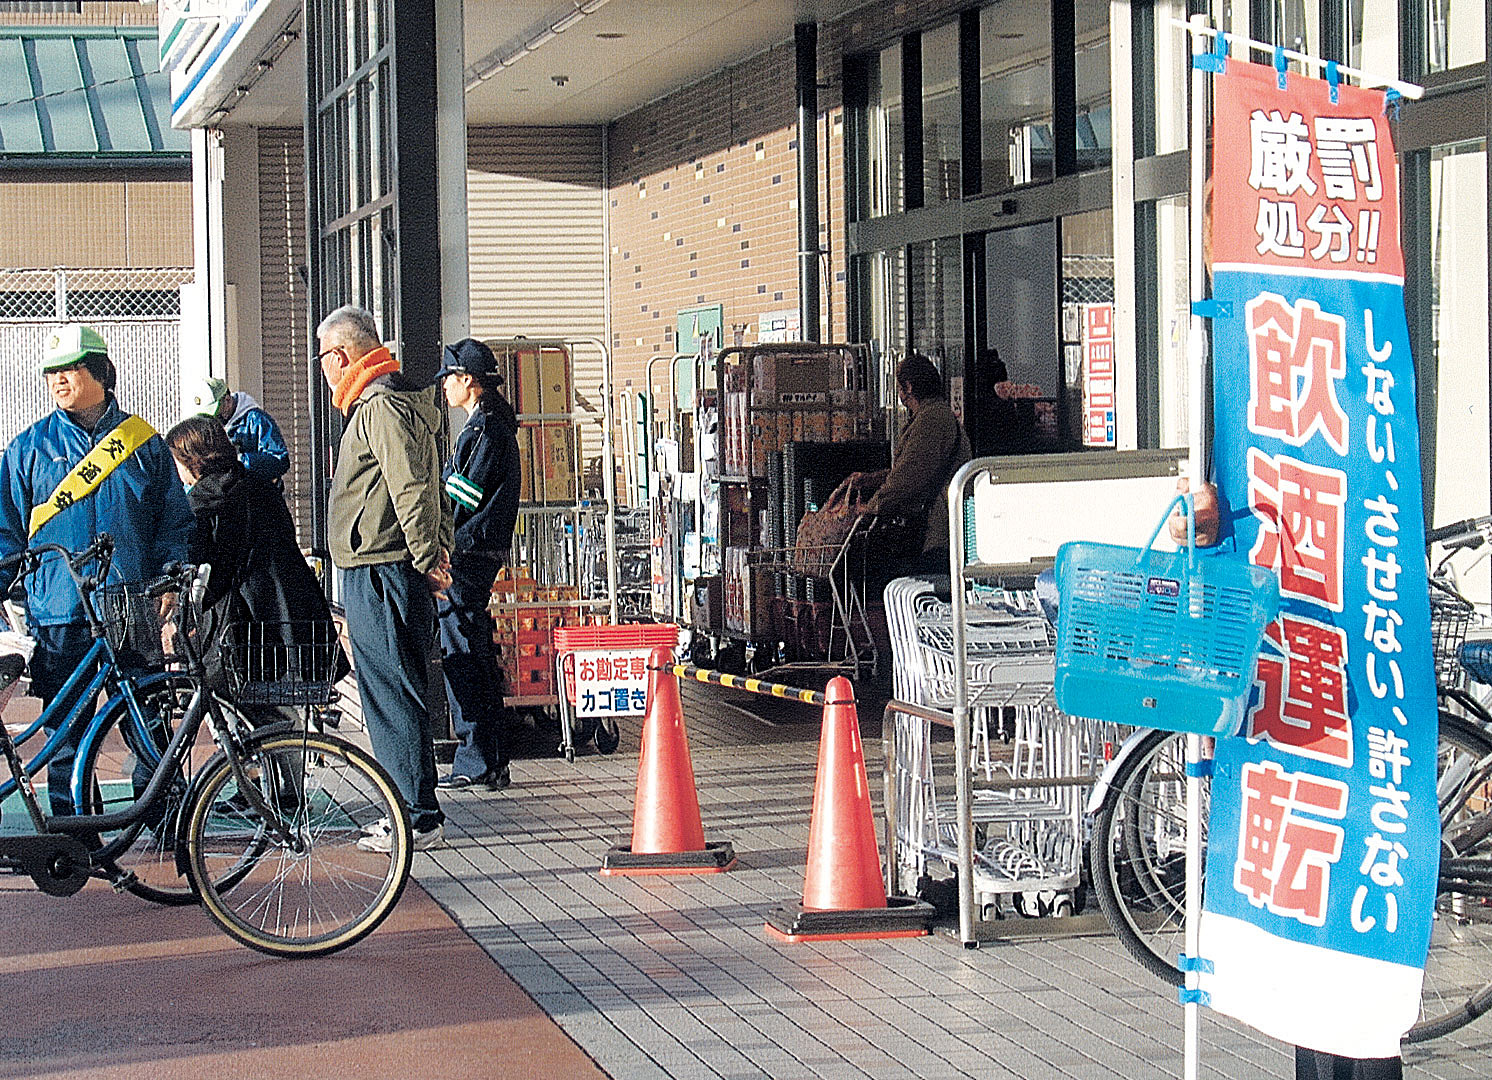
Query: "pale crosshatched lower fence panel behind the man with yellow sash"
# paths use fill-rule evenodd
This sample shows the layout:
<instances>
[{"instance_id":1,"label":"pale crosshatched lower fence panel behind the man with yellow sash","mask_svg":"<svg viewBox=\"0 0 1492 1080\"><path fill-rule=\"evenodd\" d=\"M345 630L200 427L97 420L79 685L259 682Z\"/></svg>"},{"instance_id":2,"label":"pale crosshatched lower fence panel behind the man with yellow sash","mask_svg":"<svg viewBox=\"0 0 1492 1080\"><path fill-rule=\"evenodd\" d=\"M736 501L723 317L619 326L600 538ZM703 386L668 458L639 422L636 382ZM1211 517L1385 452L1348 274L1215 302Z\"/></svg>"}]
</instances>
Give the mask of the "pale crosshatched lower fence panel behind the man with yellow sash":
<instances>
[{"instance_id":1,"label":"pale crosshatched lower fence panel behind the man with yellow sash","mask_svg":"<svg viewBox=\"0 0 1492 1080\"><path fill-rule=\"evenodd\" d=\"M54 406L40 374L42 348L54 321L0 319L0 446ZM178 319L88 321L109 345L119 371L115 395L125 412L164 433L182 418L181 324Z\"/></svg>"}]
</instances>

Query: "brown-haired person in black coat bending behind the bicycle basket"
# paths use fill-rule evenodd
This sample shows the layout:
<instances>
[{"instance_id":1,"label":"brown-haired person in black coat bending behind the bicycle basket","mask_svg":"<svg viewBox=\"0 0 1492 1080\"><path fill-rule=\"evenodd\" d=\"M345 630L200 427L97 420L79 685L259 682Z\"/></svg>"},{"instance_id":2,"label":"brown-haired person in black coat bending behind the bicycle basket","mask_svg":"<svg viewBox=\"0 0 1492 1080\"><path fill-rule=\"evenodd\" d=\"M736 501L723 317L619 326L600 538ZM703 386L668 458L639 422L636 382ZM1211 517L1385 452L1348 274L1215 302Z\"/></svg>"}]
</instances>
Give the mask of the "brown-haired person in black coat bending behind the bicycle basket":
<instances>
[{"instance_id":1,"label":"brown-haired person in black coat bending behind the bicycle basket","mask_svg":"<svg viewBox=\"0 0 1492 1080\"><path fill-rule=\"evenodd\" d=\"M222 424L209 416L182 421L166 433L166 445L195 516L188 559L212 565L201 627L209 670L219 667L221 638L233 625L252 627L257 655L240 671L255 680L348 674L331 609L279 491L243 467Z\"/></svg>"}]
</instances>

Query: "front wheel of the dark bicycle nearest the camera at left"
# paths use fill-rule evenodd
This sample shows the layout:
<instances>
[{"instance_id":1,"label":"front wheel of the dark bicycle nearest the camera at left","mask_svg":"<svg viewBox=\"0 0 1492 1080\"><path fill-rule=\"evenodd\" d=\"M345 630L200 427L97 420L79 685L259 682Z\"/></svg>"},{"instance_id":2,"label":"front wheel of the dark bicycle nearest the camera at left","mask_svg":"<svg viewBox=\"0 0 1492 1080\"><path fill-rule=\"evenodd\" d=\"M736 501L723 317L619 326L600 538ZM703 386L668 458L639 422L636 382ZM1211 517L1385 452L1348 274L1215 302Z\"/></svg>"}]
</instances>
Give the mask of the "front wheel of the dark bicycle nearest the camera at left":
<instances>
[{"instance_id":1,"label":"front wheel of the dark bicycle nearest the camera at left","mask_svg":"<svg viewBox=\"0 0 1492 1080\"><path fill-rule=\"evenodd\" d=\"M240 791L225 755L209 762L182 823L188 874L207 914L234 940L276 956L360 941L409 880L412 829L394 782L364 750L316 732L251 735L240 755L243 780L280 822L266 820ZM391 850L361 850L358 840L385 819Z\"/></svg>"}]
</instances>

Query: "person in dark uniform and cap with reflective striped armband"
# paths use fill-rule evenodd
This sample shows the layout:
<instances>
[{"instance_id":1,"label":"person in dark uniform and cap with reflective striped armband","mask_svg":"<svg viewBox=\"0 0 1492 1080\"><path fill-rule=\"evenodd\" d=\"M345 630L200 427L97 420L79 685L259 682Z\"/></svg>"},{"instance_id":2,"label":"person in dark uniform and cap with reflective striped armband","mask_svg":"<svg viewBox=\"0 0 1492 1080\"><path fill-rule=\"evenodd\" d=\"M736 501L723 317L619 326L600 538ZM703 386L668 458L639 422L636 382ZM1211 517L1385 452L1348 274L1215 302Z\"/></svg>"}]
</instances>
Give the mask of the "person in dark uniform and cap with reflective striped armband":
<instances>
[{"instance_id":1,"label":"person in dark uniform and cap with reflective striped armband","mask_svg":"<svg viewBox=\"0 0 1492 1080\"><path fill-rule=\"evenodd\" d=\"M446 404L468 416L440 473L455 504L451 586L437 615L457 752L439 786L501 791L512 782L503 732L504 680L486 609L518 522L518 418L497 389L503 376L482 342L467 337L448 345L442 361L436 380Z\"/></svg>"}]
</instances>

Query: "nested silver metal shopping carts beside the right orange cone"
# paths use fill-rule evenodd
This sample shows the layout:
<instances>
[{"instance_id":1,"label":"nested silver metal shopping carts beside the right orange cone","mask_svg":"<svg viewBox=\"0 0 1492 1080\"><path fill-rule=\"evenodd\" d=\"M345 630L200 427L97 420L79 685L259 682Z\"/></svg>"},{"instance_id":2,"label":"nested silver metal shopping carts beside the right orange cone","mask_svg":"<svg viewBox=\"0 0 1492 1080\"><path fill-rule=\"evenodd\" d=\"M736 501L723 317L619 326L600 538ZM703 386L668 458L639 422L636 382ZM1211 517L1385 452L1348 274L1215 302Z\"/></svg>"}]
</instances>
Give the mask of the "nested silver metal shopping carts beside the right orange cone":
<instances>
[{"instance_id":1,"label":"nested silver metal shopping carts beside the right orange cone","mask_svg":"<svg viewBox=\"0 0 1492 1080\"><path fill-rule=\"evenodd\" d=\"M930 862L958 865L958 807L934 765L934 728L952 726L947 709L967 688L973 743L973 897L985 919L1009 901L1021 914L1082 908L1083 804L1080 783L1113 746L1113 725L1067 716L1052 704L1050 627L1032 592L1032 573L1016 571L964 604L965 659L956 664L949 579L900 579L886 591L898 677L927 715L892 728L895 823L888 829L894 886L915 892ZM943 713L938 716L937 713ZM997 759L992 734L1010 740ZM962 761L962 759L959 759ZM953 771L961 771L955 765Z\"/></svg>"}]
</instances>

